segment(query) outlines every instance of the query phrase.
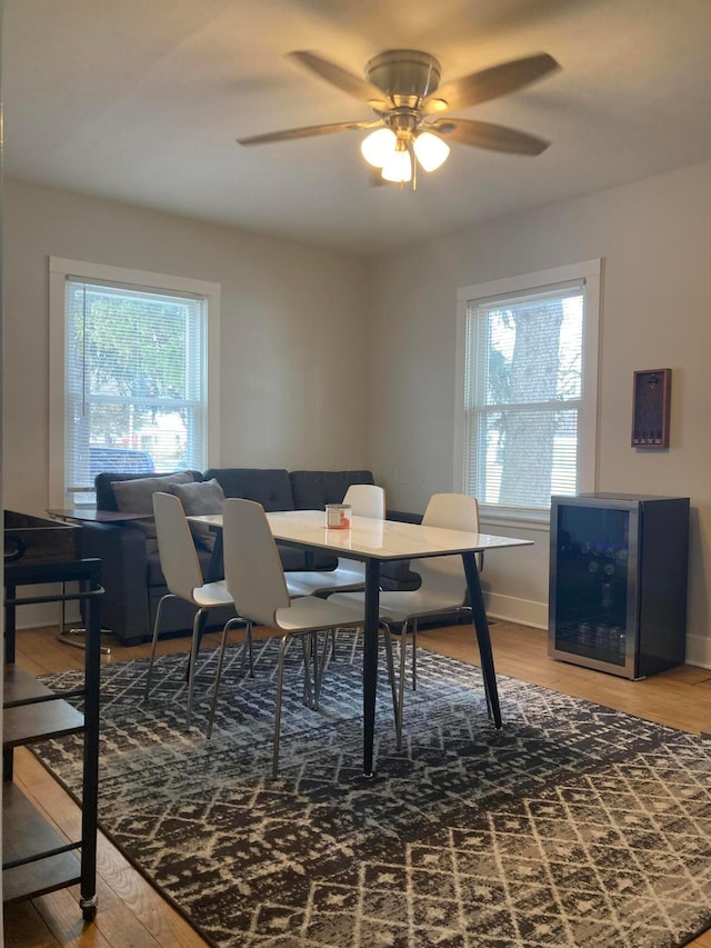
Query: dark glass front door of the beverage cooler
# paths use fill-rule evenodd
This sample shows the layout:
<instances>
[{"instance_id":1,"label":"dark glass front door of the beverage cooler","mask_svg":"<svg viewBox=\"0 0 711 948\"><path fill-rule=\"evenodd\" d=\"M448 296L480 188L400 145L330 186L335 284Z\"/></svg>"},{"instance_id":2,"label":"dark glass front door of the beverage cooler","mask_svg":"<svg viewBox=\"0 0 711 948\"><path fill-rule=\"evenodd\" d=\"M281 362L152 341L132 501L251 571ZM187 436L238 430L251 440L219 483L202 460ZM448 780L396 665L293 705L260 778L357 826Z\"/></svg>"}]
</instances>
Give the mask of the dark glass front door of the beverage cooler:
<instances>
[{"instance_id":1,"label":"dark glass front door of the beverage cooler","mask_svg":"<svg viewBox=\"0 0 711 948\"><path fill-rule=\"evenodd\" d=\"M634 675L638 505L554 501L549 655Z\"/></svg>"}]
</instances>

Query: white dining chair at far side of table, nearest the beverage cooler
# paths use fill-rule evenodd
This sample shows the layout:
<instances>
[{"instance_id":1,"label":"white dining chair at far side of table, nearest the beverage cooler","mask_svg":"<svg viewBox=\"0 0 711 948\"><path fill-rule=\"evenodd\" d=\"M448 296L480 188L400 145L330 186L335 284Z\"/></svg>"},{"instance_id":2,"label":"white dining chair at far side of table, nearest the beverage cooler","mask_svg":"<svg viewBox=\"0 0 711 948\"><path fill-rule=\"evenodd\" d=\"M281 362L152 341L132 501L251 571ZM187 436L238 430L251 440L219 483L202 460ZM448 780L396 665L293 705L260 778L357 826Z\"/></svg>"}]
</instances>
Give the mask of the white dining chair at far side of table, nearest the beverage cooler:
<instances>
[{"instance_id":1,"label":"white dining chair at far side of table, nearest the beverage cooler","mask_svg":"<svg viewBox=\"0 0 711 948\"><path fill-rule=\"evenodd\" d=\"M427 527L479 532L479 505L474 497L463 493L434 493L422 517ZM398 680L398 747L402 740L404 710L405 650L408 635L412 636L412 688L417 688L418 619L462 611L471 612L467 601L467 577L459 556L428 557L414 562L411 569L421 578L413 590L388 590L380 593L380 619L387 626L399 627L400 676ZM363 602L362 592L337 592L329 601L339 606Z\"/></svg>"}]
</instances>

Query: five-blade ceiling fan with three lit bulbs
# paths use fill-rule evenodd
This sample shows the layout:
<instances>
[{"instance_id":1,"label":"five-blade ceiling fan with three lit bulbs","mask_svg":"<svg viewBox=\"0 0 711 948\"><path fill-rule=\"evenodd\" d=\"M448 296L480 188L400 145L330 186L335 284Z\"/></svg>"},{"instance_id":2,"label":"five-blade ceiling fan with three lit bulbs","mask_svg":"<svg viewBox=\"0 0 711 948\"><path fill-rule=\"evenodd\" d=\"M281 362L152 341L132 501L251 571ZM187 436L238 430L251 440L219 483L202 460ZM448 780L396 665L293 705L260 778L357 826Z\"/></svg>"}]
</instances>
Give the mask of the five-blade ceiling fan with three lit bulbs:
<instances>
[{"instance_id":1,"label":"five-blade ceiling fan with three lit bulbs","mask_svg":"<svg viewBox=\"0 0 711 948\"><path fill-rule=\"evenodd\" d=\"M361 144L365 160L380 169L382 181L417 183L417 170L433 171L447 159L447 140L512 154L540 154L550 142L504 126L443 117L452 109L488 102L559 69L547 52L502 62L440 86L441 67L429 52L391 49L365 66L365 78L306 50L289 57L321 79L348 92L375 112L374 121L333 122L237 139L239 144L267 144L353 129L371 129Z\"/></svg>"}]
</instances>

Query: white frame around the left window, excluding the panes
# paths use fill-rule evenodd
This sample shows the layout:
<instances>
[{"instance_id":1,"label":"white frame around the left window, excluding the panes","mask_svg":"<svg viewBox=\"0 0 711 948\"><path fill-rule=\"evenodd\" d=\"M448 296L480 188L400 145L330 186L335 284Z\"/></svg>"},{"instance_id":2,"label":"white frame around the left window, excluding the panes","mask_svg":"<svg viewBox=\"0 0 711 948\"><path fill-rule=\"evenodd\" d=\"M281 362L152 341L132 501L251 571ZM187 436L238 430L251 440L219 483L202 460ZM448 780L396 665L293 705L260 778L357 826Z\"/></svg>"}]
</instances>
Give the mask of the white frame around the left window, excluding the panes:
<instances>
[{"instance_id":1,"label":"white frame around the left window, excluding the panes","mask_svg":"<svg viewBox=\"0 0 711 948\"><path fill-rule=\"evenodd\" d=\"M206 457L204 468L219 466L220 457L220 295L219 283L113 267L49 258L49 477L51 508L67 506L64 486L64 399L66 399L66 281L68 277L118 283L138 290L180 292L204 297L206 348Z\"/></svg>"}]
</instances>

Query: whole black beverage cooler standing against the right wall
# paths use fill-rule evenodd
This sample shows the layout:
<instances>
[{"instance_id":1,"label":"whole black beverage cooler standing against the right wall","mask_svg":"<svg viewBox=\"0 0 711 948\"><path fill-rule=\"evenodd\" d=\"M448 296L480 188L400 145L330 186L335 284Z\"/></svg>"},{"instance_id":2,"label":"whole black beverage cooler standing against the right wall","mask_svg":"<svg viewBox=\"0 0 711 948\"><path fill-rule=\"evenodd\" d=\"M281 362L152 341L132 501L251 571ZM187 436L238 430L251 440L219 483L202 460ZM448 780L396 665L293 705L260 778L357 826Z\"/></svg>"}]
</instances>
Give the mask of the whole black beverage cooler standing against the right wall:
<instances>
[{"instance_id":1,"label":"whole black beverage cooler standing against the right wall","mask_svg":"<svg viewBox=\"0 0 711 948\"><path fill-rule=\"evenodd\" d=\"M551 498L551 658L644 678L685 652L689 498Z\"/></svg>"}]
</instances>

